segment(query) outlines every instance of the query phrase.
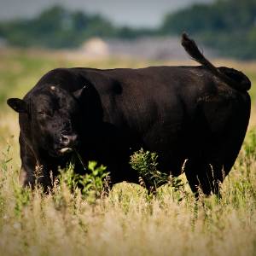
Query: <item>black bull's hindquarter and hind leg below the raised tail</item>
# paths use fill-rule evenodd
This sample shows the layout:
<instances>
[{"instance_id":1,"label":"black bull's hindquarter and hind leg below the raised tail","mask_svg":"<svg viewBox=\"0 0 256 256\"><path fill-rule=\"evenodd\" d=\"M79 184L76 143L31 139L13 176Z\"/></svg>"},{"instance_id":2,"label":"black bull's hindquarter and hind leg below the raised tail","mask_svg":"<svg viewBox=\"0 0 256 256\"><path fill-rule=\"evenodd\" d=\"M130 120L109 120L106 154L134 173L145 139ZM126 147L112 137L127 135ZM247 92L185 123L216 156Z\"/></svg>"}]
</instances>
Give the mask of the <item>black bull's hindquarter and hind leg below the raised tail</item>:
<instances>
[{"instance_id":1,"label":"black bull's hindquarter and hind leg below the raised tail","mask_svg":"<svg viewBox=\"0 0 256 256\"><path fill-rule=\"evenodd\" d=\"M212 96L199 106L199 127L202 137L198 152L187 162L185 173L192 191L206 195L219 193L236 161L250 117L250 98L232 91L232 97ZM197 154L197 155L196 155Z\"/></svg>"}]
</instances>

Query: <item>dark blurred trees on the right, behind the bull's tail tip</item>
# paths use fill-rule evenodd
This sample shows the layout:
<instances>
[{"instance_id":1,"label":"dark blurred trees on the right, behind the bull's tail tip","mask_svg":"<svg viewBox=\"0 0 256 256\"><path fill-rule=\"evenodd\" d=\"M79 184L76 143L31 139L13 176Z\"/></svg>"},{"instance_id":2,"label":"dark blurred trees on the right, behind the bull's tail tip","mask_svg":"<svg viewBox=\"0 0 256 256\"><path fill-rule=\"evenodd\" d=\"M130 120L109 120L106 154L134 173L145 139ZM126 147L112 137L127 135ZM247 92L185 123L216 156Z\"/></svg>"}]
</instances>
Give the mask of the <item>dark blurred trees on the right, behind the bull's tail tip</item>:
<instances>
[{"instance_id":1,"label":"dark blurred trees on the right, behind the bull's tail tip","mask_svg":"<svg viewBox=\"0 0 256 256\"><path fill-rule=\"evenodd\" d=\"M256 59L256 1L218 0L166 15L162 33L189 32L221 55Z\"/></svg>"}]
</instances>

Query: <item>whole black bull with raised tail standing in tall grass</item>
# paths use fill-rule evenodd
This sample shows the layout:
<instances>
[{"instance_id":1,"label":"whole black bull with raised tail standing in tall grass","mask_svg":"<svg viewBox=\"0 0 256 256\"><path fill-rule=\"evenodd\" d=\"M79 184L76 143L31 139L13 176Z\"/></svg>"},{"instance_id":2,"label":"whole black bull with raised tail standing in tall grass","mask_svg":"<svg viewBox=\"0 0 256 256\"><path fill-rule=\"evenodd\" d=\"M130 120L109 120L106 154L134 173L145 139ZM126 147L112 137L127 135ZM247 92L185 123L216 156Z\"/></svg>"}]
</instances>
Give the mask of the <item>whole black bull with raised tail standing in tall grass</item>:
<instances>
[{"instance_id":1,"label":"whole black bull with raised tail standing in tall grass","mask_svg":"<svg viewBox=\"0 0 256 256\"><path fill-rule=\"evenodd\" d=\"M186 35L183 47L202 66L60 68L23 100L9 99L20 113L21 182L33 185L42 166L38 180L49 186L49 173L57 175L75 149L84 163L108 166L112 183L137 183L129 157L144 148L173 176L187 160L193 192L218 193L247 131L250 81L234 69L213 67Z\"/></svg>"}]
</instances>

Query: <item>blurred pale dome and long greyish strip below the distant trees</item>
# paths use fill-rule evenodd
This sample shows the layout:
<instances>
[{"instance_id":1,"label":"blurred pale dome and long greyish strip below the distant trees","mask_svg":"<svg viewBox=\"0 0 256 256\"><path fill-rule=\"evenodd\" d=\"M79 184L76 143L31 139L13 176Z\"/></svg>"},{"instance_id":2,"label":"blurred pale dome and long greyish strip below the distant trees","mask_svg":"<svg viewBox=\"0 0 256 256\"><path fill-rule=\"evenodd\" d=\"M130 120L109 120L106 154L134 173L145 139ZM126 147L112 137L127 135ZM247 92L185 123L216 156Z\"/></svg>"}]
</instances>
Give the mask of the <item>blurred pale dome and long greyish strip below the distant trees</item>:
<instances>
[{"instance_id":1,"label":"blurred pale dome and long greyish strip below the distant trees","mask_svg":"<svg viewBox=\"0 0 256 256\"><path fill-rule=\"evenodd\" d=\"M207 56L212 50L201 47ZM91 38L79 49L81 55L90 58L128 57L148 60L183 60L188 55L180 44L180 38L137 38L134 40Z\"/></svg>"}]
</instances>

